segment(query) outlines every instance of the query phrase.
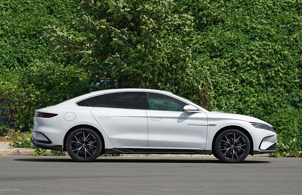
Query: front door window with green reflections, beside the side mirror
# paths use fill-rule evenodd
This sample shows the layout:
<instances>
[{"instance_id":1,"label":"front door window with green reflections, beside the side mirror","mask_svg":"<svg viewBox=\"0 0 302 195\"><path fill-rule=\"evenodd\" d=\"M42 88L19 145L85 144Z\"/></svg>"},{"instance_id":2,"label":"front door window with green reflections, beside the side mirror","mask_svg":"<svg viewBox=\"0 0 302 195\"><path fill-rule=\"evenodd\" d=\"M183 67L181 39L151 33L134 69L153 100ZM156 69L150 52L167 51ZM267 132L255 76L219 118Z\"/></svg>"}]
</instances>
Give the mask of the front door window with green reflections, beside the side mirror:
<instances>
[{"instance_id":1,"label":"front door window with green reflections, beside the side mirror","mask_svg":"<svg viewBox=\"0 0 302 195\"><path fill-rule=\"evenodd\" d=\"M146 93L150 110L162 110L162 111L178 111L183 112L183 107L186 104L178 99L170 96L165 96L159 93Z\"/></svg>"}]
</instances>

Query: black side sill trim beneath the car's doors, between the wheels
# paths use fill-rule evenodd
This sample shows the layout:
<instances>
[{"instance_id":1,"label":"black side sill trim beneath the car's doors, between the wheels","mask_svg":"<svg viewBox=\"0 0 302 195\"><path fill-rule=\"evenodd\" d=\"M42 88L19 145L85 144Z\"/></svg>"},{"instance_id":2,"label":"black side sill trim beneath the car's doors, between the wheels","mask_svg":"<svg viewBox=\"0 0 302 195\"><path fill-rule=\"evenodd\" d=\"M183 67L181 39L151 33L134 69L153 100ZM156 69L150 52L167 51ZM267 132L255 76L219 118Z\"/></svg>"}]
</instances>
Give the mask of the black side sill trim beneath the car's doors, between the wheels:
<instances>
[{"instance_id":1,"label":"black side sill trim beneath the car's doors, between the wheels","mask_svg":"<svg viewBox=\"0 0 302 195\"><path fill-rule=\"evenodd\" d=\"M212 154L212 150L198 149L137 149L112 148L105 149L106 154Z\"/></svg>"}]
</instances>

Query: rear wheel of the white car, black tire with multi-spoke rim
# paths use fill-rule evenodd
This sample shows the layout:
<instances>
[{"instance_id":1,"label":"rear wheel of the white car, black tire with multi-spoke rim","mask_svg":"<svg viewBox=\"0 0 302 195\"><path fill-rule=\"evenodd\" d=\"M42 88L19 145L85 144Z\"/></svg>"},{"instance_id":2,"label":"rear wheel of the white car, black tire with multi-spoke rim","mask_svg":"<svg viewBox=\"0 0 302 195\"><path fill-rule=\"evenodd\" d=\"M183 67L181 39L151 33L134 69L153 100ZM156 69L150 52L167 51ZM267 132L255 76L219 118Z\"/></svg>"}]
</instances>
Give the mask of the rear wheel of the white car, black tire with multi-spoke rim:
<instances>
[{"instance_id":1,"label":"rear wheel of the white car, black tire with multi-spoke rim","mask_svg":"<svg viewBox=\"0 0 302 195\"><path fill-rule=\"evenodd\" d=\"M66 149L69 156L77 162L92 162L102 150L100 136L88 128L72 131L67 137Z\"/></svg>"}]
</instances>

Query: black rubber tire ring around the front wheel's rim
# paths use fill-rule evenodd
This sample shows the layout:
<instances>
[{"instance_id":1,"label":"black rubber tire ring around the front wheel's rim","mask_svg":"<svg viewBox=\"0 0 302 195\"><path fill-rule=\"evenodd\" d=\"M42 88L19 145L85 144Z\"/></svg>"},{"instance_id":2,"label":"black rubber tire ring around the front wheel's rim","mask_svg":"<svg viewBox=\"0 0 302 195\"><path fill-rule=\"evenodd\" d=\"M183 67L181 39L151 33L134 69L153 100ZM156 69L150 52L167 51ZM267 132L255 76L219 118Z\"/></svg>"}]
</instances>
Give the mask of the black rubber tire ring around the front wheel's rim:
<instances>
[{"instance_id":1,"label":"black rubber tire ring around the front wheel's rim","mask_svg":"<svg viewBox=\"0 0 302 195\"><path fill-rule=\"evenodd\" d=\"M220 144L220 140L222 139L222 137L224 137L226 134L230 134L230 133L236 133L239 134L240 136L243 137L243 139L246 141L246 151L245 153L239 158L239 159L227 159L226 157L224 157L219 149L219 144ZM215 151L215 155L217 156L218 159L222 160L223 162L226 163L239 163L242 162L244 159L246 159L246 157L249 155L249 151L250 151L250 143L249 143L249 138L246 136L246 134L244 134L242 131L239 131L237 129L228 129L226 131L221 132L214 143L214 151Z\"/></svg>"}]
</instances>

